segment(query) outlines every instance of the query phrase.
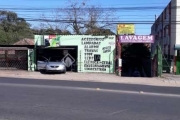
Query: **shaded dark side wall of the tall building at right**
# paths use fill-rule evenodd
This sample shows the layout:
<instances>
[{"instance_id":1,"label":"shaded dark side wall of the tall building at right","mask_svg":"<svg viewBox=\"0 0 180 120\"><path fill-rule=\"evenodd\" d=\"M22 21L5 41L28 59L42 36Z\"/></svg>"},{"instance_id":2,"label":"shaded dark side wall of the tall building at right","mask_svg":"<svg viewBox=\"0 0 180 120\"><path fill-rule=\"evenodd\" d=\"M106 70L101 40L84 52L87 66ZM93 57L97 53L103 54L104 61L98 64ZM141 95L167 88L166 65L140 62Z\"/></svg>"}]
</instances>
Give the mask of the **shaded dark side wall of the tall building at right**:
<instances>
[{"instance_id":1,"label":"shaded dark side wall of the tall building at right","mask_svg":"<svg viewBox=\"0 0 180 120\"><path fill-rule=\"evenodd\" d=\"M155 51L157 45L160 45L163 54L167 56L173 55L170 51L170 39L171 39L171 2L165 7L162 13L157 17L156 21L152 25L151 34L155 35L155 43L152 45L152 51Z\"/></svg>"}]
</instances>

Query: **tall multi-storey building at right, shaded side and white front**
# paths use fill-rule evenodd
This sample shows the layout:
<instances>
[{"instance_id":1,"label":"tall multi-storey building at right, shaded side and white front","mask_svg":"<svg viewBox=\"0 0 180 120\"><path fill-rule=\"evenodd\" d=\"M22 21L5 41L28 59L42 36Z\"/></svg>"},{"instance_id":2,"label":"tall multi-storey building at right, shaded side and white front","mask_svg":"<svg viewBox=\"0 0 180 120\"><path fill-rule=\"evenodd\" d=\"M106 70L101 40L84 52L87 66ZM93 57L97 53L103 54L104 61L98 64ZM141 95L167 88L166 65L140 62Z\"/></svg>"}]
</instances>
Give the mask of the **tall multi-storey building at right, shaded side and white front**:
<instances>
[{"instance_id":1,"label":"tall multi-storey building at right, shaded side and white front","mask_svg":"<svg viewBox=\"0 0 180 120\"><path fill-rule=\"evenodd\" d=\"M180 1L179 1L180 2ZM165 6L162 13L157 17L151 28L151 34L155 35L155 43L152 45L152 54L155 53L156 46L160 45L162 49L163 59L171 61L171 72L174 66L174 44L177 43L179 38L179 28L175 21L178 21L179 16L177 12L179 9L175 7L179 5L178 0L171 0L167 6ZM178 29L177 29L178 28ZM167 63L167 62L166 62ZM167 65L166 65L167 66Z\"/></svg>"}]
</instances>

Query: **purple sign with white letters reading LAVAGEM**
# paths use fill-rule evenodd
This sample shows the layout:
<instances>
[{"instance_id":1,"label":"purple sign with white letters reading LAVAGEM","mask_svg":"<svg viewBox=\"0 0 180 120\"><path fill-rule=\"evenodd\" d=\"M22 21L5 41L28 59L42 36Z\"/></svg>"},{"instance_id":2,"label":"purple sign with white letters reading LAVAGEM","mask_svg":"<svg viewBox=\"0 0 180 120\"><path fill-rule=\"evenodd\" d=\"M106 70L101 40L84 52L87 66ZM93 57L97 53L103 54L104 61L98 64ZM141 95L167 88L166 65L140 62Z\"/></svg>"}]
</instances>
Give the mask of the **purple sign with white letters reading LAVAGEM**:
<instances>
[{"instance_id":1,"label":"purple sign with white letters reading LAVAGEM","mask_svg":"<svg viewBox=\"0 0 180 120\"><path fill-rule=\"evenodd\" d=\"M154 43L153 35L120 35L120 43Z\"/></svg>"}]
</instances>

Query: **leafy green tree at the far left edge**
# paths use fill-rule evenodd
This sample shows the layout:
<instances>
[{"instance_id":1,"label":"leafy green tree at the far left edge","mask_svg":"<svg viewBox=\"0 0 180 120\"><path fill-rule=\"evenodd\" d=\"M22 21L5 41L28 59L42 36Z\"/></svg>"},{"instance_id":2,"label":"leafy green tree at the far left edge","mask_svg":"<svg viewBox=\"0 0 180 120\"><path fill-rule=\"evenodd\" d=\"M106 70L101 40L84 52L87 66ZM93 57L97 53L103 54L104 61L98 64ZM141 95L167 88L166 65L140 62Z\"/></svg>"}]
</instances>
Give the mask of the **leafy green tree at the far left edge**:
<instances>
[{"instance_id":1,"label":"leafy green tree at the far left edge","mask_svg":"<svg viewBox=\"0 0 180 120\"><path fill-rule=\"evenodd\" d=\"M13 44L23 38L32 38L33 34L23 18L11 11L0 11L0 44Z\"/></svg>"}]
</instances>

